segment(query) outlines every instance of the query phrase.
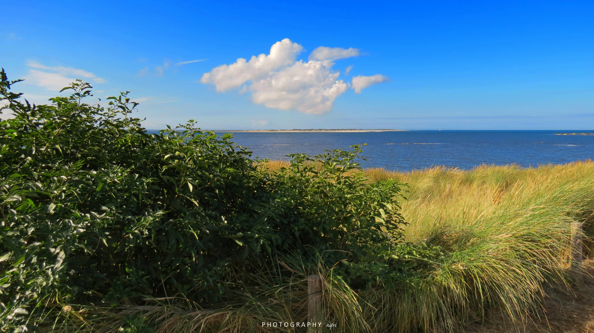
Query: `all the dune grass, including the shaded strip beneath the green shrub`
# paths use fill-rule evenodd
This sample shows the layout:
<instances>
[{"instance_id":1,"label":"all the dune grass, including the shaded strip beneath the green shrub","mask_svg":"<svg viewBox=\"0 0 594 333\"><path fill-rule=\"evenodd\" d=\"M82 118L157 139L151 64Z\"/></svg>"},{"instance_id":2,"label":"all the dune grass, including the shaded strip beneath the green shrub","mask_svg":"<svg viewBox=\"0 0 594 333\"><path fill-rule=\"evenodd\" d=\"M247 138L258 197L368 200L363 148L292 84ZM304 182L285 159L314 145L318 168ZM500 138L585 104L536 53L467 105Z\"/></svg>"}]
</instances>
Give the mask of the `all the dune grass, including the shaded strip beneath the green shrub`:
<instances>
[{"instance_id":1,"label":"all the dune grass, including the shaded strip beneath the green shrub","mask_svg":"<svg viewBox=\"0 0 594 333\"><path fill-rule=\"evenodd\" d=\"M266 168L273 172L284 165L271 161ZM70 324L53 330L71 331L78 325L115 332L156 322L159 333L269 331L261 322L305 321L305 277L311 273L323 277L325 322L338 324L333 331L461 331L490 311L501 312L510 325L521 328L529 318L542 316L539 309L548 290L571 290L571 222L584 223L586 252L592 247L591 161L538 168L484 165L470 171L435 167L364 172L369 181L397 178L409 185L403 203L409 223L406 239L441 253L431 258L432 268L424 276L403 281L396 289L351 290L331 267L281 258L278 270L293 271L292 278L274 272L241 278L236 302L219 308L157 300L154 306L119 310L87 307L81 316L75 312L82 308L74 307L61 312ZM141 323L130 324L134 320Z\"/></svg>"}]
</instances>

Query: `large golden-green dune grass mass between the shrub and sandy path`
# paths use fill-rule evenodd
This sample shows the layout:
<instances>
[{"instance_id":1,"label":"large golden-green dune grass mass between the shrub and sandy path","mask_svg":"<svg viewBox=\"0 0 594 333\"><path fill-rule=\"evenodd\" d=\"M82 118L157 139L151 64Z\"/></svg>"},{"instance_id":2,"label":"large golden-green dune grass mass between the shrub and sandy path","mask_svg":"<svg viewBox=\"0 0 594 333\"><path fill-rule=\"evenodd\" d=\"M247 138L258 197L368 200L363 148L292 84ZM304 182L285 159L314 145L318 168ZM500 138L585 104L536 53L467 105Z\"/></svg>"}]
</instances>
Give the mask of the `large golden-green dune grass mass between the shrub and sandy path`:
<instances>
[{"instance_id":1,"label":"large golden-green dune grass mass between the shrub and sandy path","mask_svg":"<svg viewBox=\"0 0 594 333\"><path fill-rule=\"evenodd\" d=\"M403 204L407 239L443 248L431 276L405 287L416 298L394 302L400 318L415 318L409 327L400 321L401 331L417 322L454 329L490 308L521 325L528 313L538 313L548 287L567 286L570 223L586 222L590 234L590 161L365 172L372 180L393 177L409 184Z\"/></svg>"}]
</instances>

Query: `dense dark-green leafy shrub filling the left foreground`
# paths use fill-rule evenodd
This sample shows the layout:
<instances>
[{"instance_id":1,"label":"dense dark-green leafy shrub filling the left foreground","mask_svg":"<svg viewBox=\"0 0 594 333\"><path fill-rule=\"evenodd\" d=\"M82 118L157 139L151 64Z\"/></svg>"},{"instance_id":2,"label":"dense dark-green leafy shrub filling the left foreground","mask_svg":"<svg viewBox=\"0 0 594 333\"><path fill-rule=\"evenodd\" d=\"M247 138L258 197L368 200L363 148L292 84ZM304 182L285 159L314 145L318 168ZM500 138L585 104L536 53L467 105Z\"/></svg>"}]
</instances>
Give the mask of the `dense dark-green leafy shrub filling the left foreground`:
<instances>
[{"instance_id":1,"label":"dense dark-green leafy shrub filling the left foreground","mask_svg":"<svg viewBox=\"0 0 594 333\"><path fill-rule=\"evenodd\" d=\"M148 133L127 92L90 105L91 87L78 81L69 97L31 105L0 75L14 114L0 120L3 329L18 330L49 297L219 302L233 271L286 255L342 262L361 286L406 273L386 255L402 244L401 185L366 184L358 146L293 155L289 168L266 172L230 135L194 121Z\"/></svg>"}]
</instances>

